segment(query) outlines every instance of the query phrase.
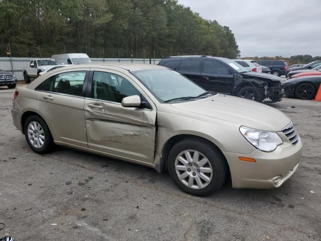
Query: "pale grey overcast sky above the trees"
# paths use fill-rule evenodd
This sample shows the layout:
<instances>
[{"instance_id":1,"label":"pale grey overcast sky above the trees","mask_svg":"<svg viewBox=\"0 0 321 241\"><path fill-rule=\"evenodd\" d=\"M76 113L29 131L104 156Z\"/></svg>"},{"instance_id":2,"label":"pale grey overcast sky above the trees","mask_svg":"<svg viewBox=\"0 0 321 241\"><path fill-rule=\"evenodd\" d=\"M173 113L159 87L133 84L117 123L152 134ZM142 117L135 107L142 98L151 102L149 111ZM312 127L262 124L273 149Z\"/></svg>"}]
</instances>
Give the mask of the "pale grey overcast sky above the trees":
<instances>
[{"instance_id":1,"label":"pale grey overcast sky above the trees","mask_svg":"<svg viewBox=\"0 0 321 241\"><path fill-rule=\"evenodd\" d=\"M321 0L179 0L230 27L242 57L321 56Z\"/></svg>"}]
</instances>

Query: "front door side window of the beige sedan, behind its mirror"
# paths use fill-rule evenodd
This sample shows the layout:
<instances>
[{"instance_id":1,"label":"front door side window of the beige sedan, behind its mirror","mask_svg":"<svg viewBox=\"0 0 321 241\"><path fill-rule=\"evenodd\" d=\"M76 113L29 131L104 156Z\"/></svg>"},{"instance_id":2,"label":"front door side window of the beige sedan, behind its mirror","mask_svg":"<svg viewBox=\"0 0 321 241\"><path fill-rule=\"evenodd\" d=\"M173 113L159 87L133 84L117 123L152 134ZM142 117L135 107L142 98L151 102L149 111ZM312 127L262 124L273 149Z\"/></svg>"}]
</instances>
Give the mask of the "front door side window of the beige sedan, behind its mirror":
<instances>
[{"instance_id":1,"label":"front door side window of the beige sedan, behind its mirror","mask_svg":"<svg viewBox=\"0 0 321 241\"><path fill-rule=\"evenodd\" d=\"M125 78L108 72L95 71L91 84L91 97L121 103L122 99L140 92Z\"/></svg>"}]
</instances>

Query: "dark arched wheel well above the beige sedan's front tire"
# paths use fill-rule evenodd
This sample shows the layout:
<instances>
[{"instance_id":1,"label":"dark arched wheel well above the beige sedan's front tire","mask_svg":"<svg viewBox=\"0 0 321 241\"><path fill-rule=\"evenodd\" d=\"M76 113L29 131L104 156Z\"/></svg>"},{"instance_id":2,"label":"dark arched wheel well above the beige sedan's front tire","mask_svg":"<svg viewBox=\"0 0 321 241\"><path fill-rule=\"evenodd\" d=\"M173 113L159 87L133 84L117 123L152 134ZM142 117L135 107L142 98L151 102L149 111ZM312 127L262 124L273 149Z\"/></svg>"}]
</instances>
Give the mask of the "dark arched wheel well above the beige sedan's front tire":
<instances>
[{"instance_id":1,"label":"dark arched wheel well above the beige sedan's front tire","mask_svg":"<svg viewBox=\"0 0 321 241\"><path fill-rule=\"evenodd\" d=\"M161 170L162 172L165 172L167 170L167 161L168 161L168 156L171 151L171 149L174 147L174 145L182 140L185 139L198 139L202 142L207 142L211 144L213 147L217 149L217 151L222 155L224 158L226 165L227 165L227 170L228 170L228 175L231 175L230 172L230 167L229 164L223 154L223 152L211 141L207 140L206 138L195 136L195 135L177 135L172 138L170 138L164 145L163 152L162 152L162 159L161 159Z\"/></svg>"}]
</instances>

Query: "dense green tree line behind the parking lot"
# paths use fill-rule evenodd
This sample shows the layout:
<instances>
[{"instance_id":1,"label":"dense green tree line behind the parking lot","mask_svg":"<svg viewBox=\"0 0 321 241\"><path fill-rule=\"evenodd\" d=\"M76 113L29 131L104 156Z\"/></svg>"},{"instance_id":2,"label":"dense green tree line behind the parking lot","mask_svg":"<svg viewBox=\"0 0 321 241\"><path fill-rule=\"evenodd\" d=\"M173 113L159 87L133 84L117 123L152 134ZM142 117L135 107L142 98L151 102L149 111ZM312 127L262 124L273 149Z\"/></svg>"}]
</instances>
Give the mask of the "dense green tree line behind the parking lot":
<instances>
[{"instance_id":1,"label":"dense green tree line behind the parking lot","mask_svg":"<svg viewBox=\"0 0 321 241\"><path fill-rule=\"evenodd\" d=\"M85 46L135 56L143 51L146 57L240 53L229 27L203 19L177 0L0 0L0 9L0 46L4 54L10 44L15 57L38 47L50 55Z\"/></svg>"}]
</instances>

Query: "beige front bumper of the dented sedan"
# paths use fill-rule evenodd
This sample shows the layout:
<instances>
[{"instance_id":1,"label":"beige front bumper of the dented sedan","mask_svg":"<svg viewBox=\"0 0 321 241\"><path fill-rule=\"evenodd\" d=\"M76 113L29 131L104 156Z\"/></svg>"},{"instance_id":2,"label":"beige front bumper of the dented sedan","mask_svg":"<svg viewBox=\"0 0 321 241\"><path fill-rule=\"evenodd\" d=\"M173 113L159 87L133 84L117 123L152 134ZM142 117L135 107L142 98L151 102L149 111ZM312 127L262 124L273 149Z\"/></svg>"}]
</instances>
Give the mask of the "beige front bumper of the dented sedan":
<instances>
[{"instance_id":1,"label":"beige front bumper of the dented sedan","mask_svg":"<svg viewBox=\"0 0 321 241\"><path fill-rule=\"evenodd\" d=\"M284 142L284 141L283 141ZM223 152L234 188L277 188L289 179L298 167L302 143L284 142L273 152L255 150L250 154ZM256 162L240 161L239 157L253 158Z\"/></svg>"}]
</instances>

